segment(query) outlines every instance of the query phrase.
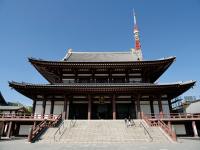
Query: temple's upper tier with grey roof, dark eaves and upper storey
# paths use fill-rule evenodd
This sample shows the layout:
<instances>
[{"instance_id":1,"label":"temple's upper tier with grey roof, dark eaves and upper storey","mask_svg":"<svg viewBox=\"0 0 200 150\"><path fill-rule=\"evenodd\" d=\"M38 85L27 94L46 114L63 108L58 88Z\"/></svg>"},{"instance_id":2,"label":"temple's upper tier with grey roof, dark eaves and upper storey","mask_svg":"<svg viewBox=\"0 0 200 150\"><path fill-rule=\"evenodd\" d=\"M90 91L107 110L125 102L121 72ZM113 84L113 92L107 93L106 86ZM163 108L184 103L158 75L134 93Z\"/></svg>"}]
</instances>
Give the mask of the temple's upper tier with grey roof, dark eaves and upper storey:
<instances>
[{"instance_id":1,"label":"temple's upper tier with grey roof, dark eaves and upper storey","mask_svg":"<svg viewBox=\"0 0 200 150\"><path fill-rule=\"evenodd\" d=\"M158 60L137 61L131 52L71 52L60 61L29 58L31 64L50 83L96 82L155 82L173 63L175 57ZM103 79L103 80L104 80ZM67 83L66 82L66 83ZM99 82L99 81L97 81Z\"/></svg>"}]
</instances>

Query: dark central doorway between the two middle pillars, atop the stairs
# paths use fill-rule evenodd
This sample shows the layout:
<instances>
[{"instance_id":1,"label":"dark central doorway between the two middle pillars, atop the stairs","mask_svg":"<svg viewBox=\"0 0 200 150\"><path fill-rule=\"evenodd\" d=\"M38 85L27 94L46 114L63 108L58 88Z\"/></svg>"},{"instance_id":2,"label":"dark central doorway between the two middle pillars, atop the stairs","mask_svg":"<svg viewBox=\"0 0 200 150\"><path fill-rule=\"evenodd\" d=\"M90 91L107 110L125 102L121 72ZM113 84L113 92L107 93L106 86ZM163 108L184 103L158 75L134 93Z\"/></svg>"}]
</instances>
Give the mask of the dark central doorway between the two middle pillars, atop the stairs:
<instances>
[{"instance_id":1,"label":"dark central doorway between the two middle pillars, atop the stairs","mask_svg":"<svg viewBox=\"0 0 200 150\"><path fill-rule=\"evenodd\" d=\"M112 119L111 104L93 104L92 119Z\"/></svg>"}]
</instances>

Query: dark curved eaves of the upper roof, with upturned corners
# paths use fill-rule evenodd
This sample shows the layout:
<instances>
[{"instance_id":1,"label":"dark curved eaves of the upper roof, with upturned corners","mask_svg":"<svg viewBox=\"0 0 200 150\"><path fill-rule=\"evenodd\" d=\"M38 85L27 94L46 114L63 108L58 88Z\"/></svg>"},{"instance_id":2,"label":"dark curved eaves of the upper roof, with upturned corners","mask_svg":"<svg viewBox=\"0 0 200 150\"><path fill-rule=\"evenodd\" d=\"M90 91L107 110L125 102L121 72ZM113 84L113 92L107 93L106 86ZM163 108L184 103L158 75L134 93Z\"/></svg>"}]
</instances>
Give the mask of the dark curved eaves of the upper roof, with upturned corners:
<instances>
[{"instance_id":1,"label":"dark curved eaves of the upper roof, with upturned corners","mask_svg":"<svg viewBox=\"0 0 200 150\"><path fill-rule=\"evenodd\" d=\"M147 68L148 78L150 82L155 82L175 61L176 57L168 57L160 60L151 60L151 61L126 61L126 62L67 62L67 61L46 61L29 58L29 62L36 68L36 70L50 83L59 83L60 76L51 71L47 71L47 68ZM153 67L151 69L150 67ZM157 66L157 69L154 68ZM59 71L58 71L59 72Z\"/></svg>"}]
</instances>

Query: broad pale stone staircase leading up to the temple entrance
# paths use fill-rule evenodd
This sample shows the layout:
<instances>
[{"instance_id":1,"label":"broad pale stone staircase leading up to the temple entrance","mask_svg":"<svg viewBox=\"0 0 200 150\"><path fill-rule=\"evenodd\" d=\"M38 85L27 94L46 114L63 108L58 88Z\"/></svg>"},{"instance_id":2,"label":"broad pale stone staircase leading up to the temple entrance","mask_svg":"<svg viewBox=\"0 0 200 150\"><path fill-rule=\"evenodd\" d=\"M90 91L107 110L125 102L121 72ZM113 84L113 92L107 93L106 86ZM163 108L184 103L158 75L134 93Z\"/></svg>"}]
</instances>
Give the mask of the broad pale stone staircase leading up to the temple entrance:
<instances>
[{"instance_id":1,"label":"broad pale stone staircase leading up to the temple entrance","mask_svg":"<svg viewBox=\"0 0 200 150\"><path fill-rule=\"evenodd\" d=\"M127 127L124 120L65 120L60 128L49 128L41 137L42 143L134 143L169 142L159 127L149 127L143 120L134 120ZM144 127L153 140L147 134ZM57 133L56 133L57 132ZM56 134L55 134L56 133ZM56 136L55 136L56 135Z\"/></svg>"}]
</instances>

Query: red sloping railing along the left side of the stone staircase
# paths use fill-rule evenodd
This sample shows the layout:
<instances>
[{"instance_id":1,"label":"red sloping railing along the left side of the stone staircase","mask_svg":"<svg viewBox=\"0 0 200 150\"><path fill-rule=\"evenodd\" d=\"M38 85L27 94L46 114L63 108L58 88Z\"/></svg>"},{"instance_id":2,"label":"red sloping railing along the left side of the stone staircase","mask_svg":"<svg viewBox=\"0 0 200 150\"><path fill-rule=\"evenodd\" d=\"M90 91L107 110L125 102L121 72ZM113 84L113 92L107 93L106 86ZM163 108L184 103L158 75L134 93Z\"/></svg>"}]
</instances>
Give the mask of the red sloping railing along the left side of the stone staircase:
<instances>
[{"instance_id":1,"label":"red sloping railing along the left side of the stone staircase","mask_svg":"<svg viewBox=\"0 0 200 150\"><path fill-rule=\"evenodd\" d=\"M62 121L62 114L58 115L57 118L50 122L47 119L43 120L40 124L38 124L35 128L34 126L30 129L28 141L34 142L37 138L50 126L57 126Z\"/></svg>"}]
</instances>

